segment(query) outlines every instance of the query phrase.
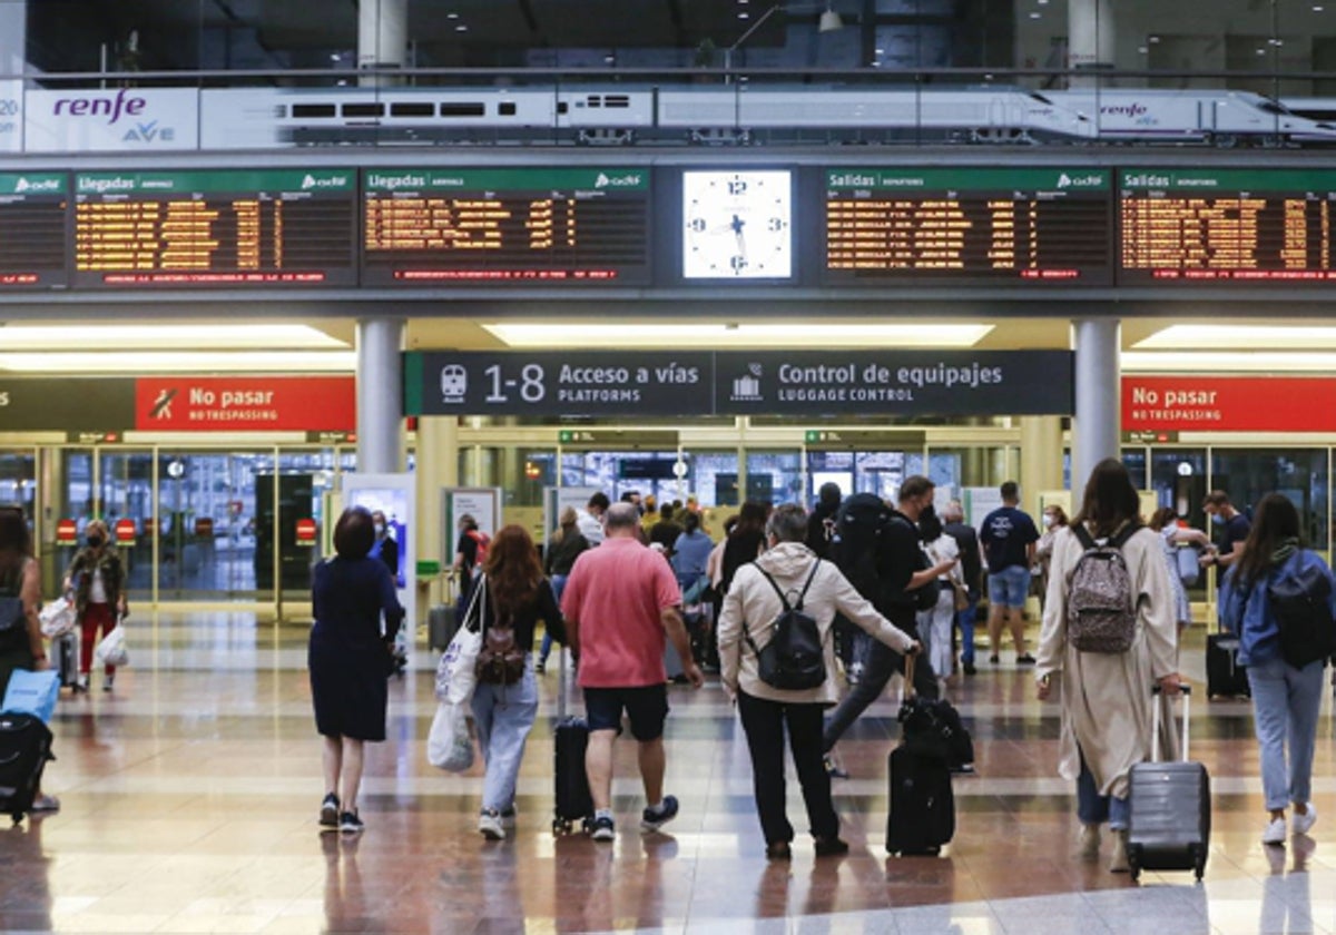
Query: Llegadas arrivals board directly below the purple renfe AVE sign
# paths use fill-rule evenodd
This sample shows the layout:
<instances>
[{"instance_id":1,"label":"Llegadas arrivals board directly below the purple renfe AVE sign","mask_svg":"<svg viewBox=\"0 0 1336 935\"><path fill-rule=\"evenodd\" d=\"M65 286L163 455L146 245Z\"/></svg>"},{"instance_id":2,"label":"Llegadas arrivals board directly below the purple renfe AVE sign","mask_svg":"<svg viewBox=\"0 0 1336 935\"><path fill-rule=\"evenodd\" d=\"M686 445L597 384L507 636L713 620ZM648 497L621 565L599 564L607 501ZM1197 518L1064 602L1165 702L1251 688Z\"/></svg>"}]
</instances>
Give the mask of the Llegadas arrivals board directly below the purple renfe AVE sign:
<instances>
[{"instance_id":1,"label":"Llegadas arrivals board directly below the purple renfe AVE sign","mask_svg":"<svg viewBox=\"0 0 1336 935\"><path fill-rule=\"evenodd\" d=\"M73 280L357 285L357 172L76 174Z\"/></svg>"}]
</instances>

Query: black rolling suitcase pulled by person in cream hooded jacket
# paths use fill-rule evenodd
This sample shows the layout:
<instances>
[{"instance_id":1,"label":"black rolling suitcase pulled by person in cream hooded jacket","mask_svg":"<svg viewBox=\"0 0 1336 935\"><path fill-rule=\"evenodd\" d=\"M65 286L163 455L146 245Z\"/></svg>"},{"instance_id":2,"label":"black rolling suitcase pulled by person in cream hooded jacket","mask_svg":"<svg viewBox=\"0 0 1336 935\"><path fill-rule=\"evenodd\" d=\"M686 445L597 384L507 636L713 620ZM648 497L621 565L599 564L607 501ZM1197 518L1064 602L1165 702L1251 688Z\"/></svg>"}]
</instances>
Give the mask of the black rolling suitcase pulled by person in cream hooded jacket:
<instances>
[{"instance_id":1,"label":"black rolling suitcase pulled by person in cream hooded jacket","mask_svg":"<svg viewBox=\"0 0 1336 935\"><path fill-rule=\"evenodd\" d=\"M904 657L906 705L914 699L914 657ZM955 835L955 793L945 755L925 755L902 743L888 763L891 813L886 819L890 854L935 855Z\"/></svg>"}]
</instances>

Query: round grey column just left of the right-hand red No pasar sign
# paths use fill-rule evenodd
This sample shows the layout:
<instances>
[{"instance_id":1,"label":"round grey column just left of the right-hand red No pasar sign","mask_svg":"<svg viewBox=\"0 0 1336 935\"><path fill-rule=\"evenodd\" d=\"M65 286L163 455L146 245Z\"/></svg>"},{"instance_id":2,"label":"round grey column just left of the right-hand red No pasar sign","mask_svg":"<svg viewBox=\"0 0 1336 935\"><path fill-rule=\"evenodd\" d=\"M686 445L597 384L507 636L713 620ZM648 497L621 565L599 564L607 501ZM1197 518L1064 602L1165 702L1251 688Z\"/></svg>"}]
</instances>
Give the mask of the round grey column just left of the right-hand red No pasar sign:
<instances>
[{"instance_id":1,"label":"round grey column just left of the right-hand red No pasar sign","mask_svg":"<svg viewBox=\"0 0 1336 935\"><path fill-rule=\"evenodd\" d=\"M1077 414L1071 421L1071 502L1081 502L1090 472L1120 450L1118 351L1121 325L1116 318L1083 318L1071 323L1075 345Z\"/></svg>"}]
</instances>

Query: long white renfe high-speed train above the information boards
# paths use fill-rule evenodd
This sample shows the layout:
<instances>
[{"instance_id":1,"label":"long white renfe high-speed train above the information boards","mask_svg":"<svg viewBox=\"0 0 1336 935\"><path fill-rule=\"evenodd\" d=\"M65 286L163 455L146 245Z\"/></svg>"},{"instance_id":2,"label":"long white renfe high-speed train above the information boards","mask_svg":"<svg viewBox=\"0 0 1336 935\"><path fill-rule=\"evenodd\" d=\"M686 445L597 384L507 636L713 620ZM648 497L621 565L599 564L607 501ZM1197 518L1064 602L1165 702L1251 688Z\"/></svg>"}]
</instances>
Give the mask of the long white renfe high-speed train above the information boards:
<instances>
[{"instance_id":1,"label":"long white renfe high-speed train above the information boards","mask_svg":"<svg viewBox=\"0 0 1336 935\"><path fill-rule=\"evenodd\" d=\"M200 146L1336 143L1321 112L1244 91L1014 85L226 88L200 94Z\"/></svg>"}]
</instances>

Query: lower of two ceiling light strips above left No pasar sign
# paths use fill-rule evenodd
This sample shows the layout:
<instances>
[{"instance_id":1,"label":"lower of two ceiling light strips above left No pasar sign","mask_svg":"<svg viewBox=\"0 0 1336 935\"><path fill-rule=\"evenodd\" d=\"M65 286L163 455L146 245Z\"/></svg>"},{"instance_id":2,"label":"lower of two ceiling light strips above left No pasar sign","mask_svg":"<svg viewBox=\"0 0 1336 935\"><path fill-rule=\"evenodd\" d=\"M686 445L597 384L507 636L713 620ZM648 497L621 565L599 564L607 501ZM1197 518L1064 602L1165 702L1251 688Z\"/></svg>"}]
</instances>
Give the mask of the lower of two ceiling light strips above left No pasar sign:
<instances>
[{"instance_id":1,"label":"lower of two ceiling light strips above left No pasar sign","mask_svg":"<svg viewBox=\"0 0 1336 935\"><path fill-rule=\"evenodd\" d=\"M354 373L355 351L0 351L17 373Z\"/></svg>"}]
</instances>

